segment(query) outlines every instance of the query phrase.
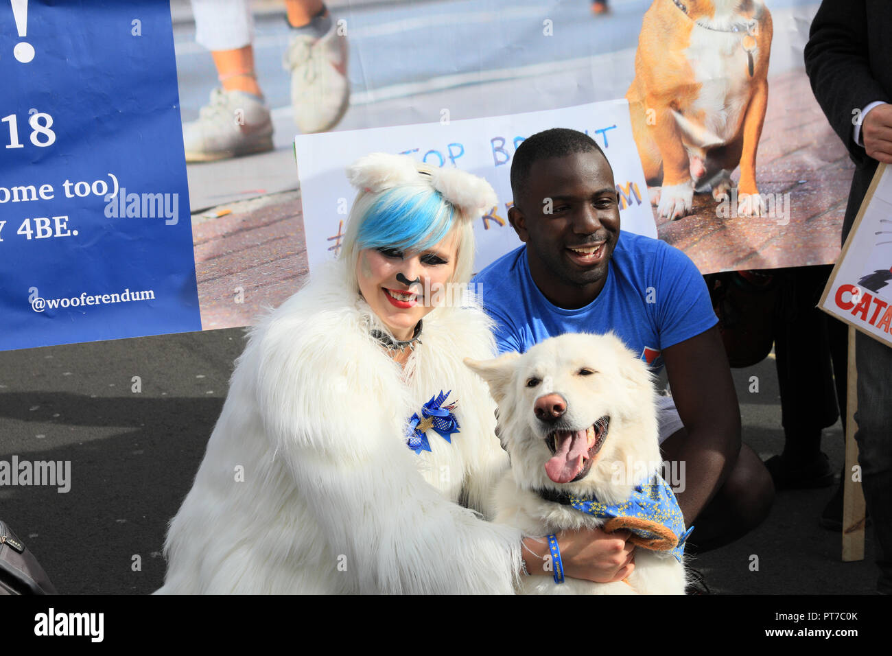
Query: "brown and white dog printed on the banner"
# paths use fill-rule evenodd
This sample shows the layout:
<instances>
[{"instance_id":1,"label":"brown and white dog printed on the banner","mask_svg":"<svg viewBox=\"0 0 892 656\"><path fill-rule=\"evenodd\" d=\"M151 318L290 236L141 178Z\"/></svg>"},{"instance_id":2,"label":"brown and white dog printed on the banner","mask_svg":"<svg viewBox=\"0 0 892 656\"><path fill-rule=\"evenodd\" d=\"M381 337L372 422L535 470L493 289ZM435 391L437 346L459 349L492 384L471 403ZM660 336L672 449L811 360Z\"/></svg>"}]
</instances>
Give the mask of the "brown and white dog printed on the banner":
<instances>
[{"instance_id":1,"label":"brown and white dog printed on the banner","mask_svg":"<svg viewBox=\"0 0 892 656\"><path fill-rule=\"evenodd\" d=\"M764 212L756 148L771 46L761 0L655 0L644 14L626 99L658 217L690 214L695 188L721 200L738 165L738 214Z\"/></svg>"}]
</instances>

